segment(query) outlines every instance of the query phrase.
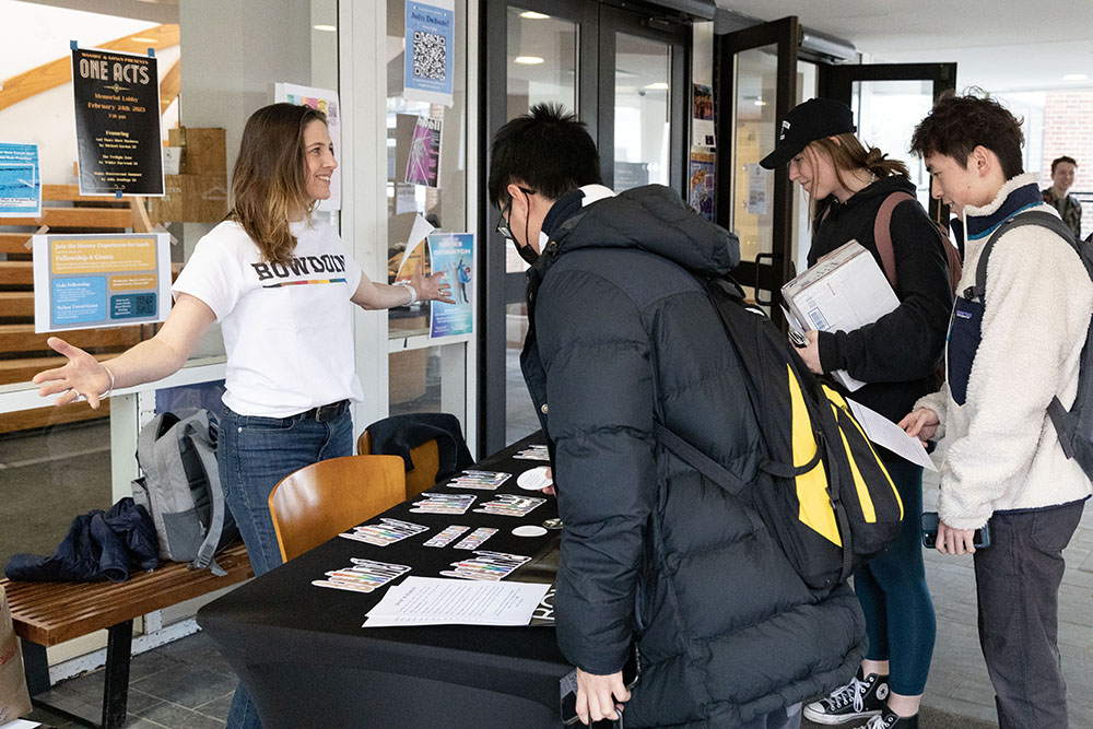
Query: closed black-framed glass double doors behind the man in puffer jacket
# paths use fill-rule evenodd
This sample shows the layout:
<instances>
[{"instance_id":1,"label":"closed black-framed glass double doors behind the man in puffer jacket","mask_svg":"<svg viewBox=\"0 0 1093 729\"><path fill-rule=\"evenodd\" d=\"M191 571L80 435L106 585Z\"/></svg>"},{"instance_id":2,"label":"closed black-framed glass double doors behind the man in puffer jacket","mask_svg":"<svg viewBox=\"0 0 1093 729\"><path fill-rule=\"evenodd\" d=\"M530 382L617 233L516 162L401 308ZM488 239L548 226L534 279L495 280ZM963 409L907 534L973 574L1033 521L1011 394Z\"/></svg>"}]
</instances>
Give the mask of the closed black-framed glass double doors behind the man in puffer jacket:
<instances>
[{"instance_id":1,"label":"closed black-framed glass double doors behind the man in puffer jacket","mask_svg":"<svg viewBox=\"0 0 1093 729\"><path fill-rule=\"evenodd\" d=\"M489 142L534 104L576 111L596 140L603 181L616 190L659 183L682 193L691 31L685 22L571 0L485 3ZM500 211L483 196L480 269L479 436L493 452L539 430L520 373L528 329L527 266L494 232Z\"/></svg>"}]
</instances>

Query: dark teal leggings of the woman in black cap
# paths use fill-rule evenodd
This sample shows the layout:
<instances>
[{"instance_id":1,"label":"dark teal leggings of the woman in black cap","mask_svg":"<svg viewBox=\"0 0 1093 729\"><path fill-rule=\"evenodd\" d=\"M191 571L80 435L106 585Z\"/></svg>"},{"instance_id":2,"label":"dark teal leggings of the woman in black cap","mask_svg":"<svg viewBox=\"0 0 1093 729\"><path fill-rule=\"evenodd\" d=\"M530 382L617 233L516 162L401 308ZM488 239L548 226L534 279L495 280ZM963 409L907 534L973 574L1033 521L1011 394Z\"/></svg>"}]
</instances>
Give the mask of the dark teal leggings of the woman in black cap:
<instances>
[{"instance_id":1,"label":"dark teal leggings of the woman in black cap","mask_svg":"<svg viewBox=\"0 0 1093 729\"><path fill-rule=\"evenodd\" d=\"M854 592L866 615L869 660L890 661L890 689L917 696L926 689L937 619L922 561L922 468L882 456L903 502L903 528L886 550L854 573Z\"/></svg>"}]
</instances>

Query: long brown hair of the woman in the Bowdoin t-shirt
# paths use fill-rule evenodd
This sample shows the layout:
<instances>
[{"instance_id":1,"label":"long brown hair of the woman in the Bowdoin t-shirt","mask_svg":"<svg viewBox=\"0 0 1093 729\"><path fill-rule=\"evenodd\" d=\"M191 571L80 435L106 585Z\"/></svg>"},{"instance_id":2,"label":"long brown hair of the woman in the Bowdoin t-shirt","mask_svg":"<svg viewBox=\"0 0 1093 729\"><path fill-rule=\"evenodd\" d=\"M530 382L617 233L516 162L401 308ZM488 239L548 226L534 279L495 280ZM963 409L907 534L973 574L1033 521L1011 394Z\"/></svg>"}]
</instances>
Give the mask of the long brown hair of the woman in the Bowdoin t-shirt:
<instances>
[{"instance_id":1,"label":"long brown hair of the woman in the Bowdoin t-shirt","mask_svg":"<svg viewBox=\"0 0 1093 729\"><path fill-rule=\"evenodd\" d=\"M304 175L304 128L327 122L321 111L295 104L263 106L247 119L232 178L232 211L262 254L262 260L287 263L296 248L290 225L310 214Z\"/></svg>"}]
</instances>

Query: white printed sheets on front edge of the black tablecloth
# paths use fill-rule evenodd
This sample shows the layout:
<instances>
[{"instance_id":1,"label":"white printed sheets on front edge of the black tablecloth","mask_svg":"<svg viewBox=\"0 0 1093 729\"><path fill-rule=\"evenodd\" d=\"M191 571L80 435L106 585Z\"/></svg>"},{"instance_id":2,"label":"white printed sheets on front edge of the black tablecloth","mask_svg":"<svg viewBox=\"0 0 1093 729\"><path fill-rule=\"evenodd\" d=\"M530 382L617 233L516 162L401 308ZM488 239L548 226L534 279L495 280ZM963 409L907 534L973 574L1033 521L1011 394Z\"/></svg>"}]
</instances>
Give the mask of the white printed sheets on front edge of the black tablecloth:
<instances>
[{"instance_id":1,"label":"white printed sheets on front edge of the black tablecloth","mask_svg":"<svg viewBox=\"0 0 1093 729\"><path fill-rule=\"evenodd\" d=\"M368 611L362 627L527 625L550 585L408 577Z\"/></svg>"}]
</instances>

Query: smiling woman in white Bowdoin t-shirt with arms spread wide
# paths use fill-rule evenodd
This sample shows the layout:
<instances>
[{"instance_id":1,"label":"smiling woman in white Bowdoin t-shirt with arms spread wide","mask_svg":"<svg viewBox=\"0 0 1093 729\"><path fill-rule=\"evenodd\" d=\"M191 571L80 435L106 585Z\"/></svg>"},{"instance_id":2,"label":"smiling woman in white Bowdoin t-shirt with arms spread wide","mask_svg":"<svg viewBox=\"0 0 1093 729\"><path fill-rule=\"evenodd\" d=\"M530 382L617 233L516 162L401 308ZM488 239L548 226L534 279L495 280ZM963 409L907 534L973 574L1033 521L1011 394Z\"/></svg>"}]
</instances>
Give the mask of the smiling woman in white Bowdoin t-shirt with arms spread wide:
<instances>
[{"instance_id":1,"label":"smiling woman in white Bowdoin t-shirt with arms spread wide","mask_svg":"<svg viewBox=\"0 0 1093 729\"><path fill-rule=\"evenodd\" d=\"M326 223L338 166L326 117L273 104L247 120L227 220L201 240L173 286L175 306L152 339L106 364L56 337L68 364L37 374L38 393L92 408L114 389L178 371L213 321L227 352L219 463L224 492L255 573L281 563L268 498L281 479L353 451L350 401L363 399L353 358L352 307L454 303L443 273L414 271L409 285L374 283ZM259 726L237 692L230 727Z\"/></svg>"}]
</instances>

